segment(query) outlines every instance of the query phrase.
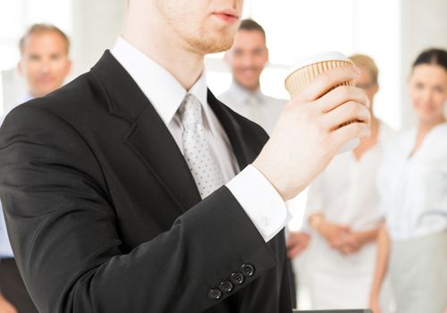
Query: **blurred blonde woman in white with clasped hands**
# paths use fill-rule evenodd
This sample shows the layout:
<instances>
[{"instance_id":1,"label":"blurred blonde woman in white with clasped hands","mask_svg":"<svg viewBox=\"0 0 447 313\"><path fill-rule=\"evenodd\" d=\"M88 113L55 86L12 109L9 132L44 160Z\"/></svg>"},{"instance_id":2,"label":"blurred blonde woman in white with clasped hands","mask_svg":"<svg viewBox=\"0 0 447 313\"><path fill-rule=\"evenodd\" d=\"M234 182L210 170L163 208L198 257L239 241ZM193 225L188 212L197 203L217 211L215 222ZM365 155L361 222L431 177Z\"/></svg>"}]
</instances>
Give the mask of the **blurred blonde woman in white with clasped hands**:
<instances>
[{"instance_id":1,"label":"blurred blonde woman in white with clasped hands","mask_svg":"<svg viewBox=\"0 0 447 313\"><path fill-rule=\"evenodd\" d=\"M356 85L366 91L372 110L379 89L377 66L367 55L350 58L361 72ZM310 185L307 215L312 240L303 287L312 309L368 306L380 222L376 170L392 130L372 114L371 132L357 148L334 157Z\"/></svg>"}]
</instances>

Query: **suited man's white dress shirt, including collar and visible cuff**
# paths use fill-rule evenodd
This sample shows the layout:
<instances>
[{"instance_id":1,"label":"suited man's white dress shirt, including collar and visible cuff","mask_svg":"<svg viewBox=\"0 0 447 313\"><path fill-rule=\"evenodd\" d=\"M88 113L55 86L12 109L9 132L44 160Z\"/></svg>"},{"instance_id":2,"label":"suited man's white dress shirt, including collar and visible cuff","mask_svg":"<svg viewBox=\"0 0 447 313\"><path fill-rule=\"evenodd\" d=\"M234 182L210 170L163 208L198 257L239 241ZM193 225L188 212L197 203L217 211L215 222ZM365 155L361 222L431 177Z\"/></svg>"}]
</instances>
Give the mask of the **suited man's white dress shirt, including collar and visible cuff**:
<instances>
[{"instance_id":1,"label":"suited man's white dress shirt, including collar and visible cuff","mask_svg":"<svg viewBox=\"0 0 447 313\"><path fill-rule=\"evenodd\" d=\"M278 192L262 173L249 165L240 173L237 160L223 126L207 103L207 80L202 74L190 90L160 64L123 38L118 38L112 55L135 80L160 115L183 153L182 126L177 114L181 101L190 93L200 100L207 143L216 157L227 188L239 201L265 241L279 233L287 223L288 211ZM238 173L236 175L236 173Z\"/></svg>"}]
</instances>

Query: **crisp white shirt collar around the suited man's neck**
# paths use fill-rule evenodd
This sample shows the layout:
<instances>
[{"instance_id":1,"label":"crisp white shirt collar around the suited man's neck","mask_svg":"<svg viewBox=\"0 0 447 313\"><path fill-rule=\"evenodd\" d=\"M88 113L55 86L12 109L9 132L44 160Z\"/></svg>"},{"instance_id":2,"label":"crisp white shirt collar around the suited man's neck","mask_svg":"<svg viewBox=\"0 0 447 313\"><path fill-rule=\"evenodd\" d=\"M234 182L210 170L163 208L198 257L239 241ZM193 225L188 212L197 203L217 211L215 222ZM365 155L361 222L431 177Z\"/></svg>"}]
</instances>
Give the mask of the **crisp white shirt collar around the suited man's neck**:
<instances>
[{"instance_id":1,"label":"crisp white shirt collar around the suited man's neck","mask_svg":"<svg viewBox=\"0 0 447 313\"><path fill-rule=\"evenodd\" d=\"M189 92L200 101L204 108L207 123L211 114L207 106L207 78L205 72L191 87L189 91L181 86L181 83L173 77L162 65L156 63L148 55L133 47L124 38L116 40L112 55L122 64L135 80L139 89L148 97L166 125L171 123L173 116L181 106L181 101ZM212 131L212 123L210 125Z\"/></svg>"}]
</instances>

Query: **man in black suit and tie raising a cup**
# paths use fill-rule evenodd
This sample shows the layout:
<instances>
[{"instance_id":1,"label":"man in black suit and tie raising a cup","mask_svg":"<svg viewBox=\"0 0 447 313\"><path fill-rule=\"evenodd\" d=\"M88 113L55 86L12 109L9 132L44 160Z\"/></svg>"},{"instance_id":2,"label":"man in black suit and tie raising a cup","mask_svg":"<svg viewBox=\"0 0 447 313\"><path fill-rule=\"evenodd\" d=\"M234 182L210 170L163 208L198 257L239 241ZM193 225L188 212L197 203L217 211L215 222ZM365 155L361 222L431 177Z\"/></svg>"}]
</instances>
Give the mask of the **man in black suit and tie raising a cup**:
<instances>
[{"instance_id":1,"label":"man in black suit and tie raising a cup","mask_svg":"<svg viewBox=\"0 0 447 313\"><path fill-rule=\"evenodd\" d=\"M39 311L291 312L283 201L368 135L367 97L327 72L268 140L203 75L241 8L131 0L90 72L8 115L0 195Z\"/></svg>"}]
</instances>

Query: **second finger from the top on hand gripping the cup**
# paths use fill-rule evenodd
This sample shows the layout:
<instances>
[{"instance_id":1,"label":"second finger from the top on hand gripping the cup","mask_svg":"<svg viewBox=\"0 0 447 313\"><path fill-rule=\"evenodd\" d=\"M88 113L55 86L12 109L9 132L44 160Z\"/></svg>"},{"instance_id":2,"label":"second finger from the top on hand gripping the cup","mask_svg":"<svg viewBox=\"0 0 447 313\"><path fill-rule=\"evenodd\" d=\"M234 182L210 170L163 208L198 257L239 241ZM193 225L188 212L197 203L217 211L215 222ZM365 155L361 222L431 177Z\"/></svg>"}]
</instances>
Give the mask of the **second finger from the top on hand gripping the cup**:
<instances>
[{"instance_id":1,"label":"second finger from the top on hand gripping the cup","mask_svg":"<svg viewBox=\"0 0 447 313\"><path fill-rule=\"evenodd\" d=\"M339 86L316 100L316 106L320 106L322 112L330 112L342 104L354 101L359 104L370 106L369 98L363 89L353 86Z\"/></svg>"}]
</instances>

